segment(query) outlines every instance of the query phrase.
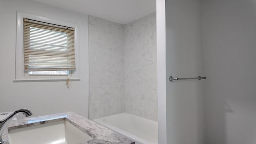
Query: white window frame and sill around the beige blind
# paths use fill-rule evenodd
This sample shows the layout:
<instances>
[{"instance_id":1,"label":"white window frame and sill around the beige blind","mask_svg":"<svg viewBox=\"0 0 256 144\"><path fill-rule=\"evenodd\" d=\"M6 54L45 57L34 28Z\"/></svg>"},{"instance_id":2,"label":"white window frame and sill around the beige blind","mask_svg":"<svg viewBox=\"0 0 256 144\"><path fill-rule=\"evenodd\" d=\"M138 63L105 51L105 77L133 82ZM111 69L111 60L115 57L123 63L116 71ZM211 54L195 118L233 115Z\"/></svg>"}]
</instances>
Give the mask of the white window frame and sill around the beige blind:
<instances>
[{"instance_id":1,"label":"white window frame and sill around the beige blind","mask_svg":"<svg viewBox=\"0 0 256 144\"><path fill-rule=\"evenodd\" d=\"M37 20L41 22L47 22L50 24L56 24L60 26L67 26L75 28L74 31L74 46L75 46L75 59L76 70L72 71L69 75L29 75L24 72L24 47L23 47L23 18ZM47 81L47 80L80 80L79 78L79 26L78 24L64 22L61 20L55 20L44 16L37 16L34 14L28 14L25 12L17 11L16 21L16 63L15 63L15 79L14 81Z\"/></svg>"}]
</instances>

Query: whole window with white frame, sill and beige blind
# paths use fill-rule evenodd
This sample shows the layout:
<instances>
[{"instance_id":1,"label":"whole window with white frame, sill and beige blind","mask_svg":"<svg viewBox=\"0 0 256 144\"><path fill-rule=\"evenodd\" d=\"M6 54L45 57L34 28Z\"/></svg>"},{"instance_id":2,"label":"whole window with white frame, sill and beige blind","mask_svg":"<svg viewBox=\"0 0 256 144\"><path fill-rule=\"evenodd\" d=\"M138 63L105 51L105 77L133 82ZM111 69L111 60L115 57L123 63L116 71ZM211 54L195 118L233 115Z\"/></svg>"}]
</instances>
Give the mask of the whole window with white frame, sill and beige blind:
<instances>
[{"instance_id":1,"label":"whole window with white frame, sill and beige blind","mask_svg":"<svg viewBox=\"0 0 256 144\"><path fill-rule=\"evenodd\" d=\"M14 81L79 80L78 25L17 12Z\"/></svg>"}]
</instances>

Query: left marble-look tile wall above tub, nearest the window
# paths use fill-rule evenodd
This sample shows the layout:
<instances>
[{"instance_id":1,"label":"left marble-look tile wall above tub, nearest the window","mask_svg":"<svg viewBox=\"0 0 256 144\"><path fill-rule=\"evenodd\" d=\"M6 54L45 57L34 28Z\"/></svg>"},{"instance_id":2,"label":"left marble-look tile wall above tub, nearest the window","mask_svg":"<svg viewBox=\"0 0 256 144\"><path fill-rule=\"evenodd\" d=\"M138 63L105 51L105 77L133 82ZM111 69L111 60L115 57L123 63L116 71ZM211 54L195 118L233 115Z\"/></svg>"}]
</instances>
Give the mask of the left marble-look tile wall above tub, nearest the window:
<instances>
[{"instance_id":1,"label":"left marble-look tile wall above tub, nearest the window","mask_svg":"<svg viewBox=\"0 0 256 144\"><path fill-rule=\"evenodd\" d=\"M89 32L89 118L124 112L124 26L93 16Z\"/></svg>"}]
</instances>

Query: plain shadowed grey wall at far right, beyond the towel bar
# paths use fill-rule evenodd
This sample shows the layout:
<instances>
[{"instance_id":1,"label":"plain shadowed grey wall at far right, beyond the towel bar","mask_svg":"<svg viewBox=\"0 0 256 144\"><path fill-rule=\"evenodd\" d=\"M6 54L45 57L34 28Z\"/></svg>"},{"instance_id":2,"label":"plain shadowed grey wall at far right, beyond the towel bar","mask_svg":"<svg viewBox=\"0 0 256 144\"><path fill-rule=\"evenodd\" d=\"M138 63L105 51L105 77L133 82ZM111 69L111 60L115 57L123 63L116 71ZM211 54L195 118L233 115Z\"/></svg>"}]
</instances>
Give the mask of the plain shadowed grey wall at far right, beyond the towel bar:
<instances>
[{"instance_id":1,"label":"plain shadowed grey wall at far right, beyond the towel bar","mask_svg":"<svg viewBox=\"0 0 256 144\"><path fill-rule=\"evenodd\" d=\"M204 0L206 144L256 143L256 2Z\"/></svg>"}]
</instances>

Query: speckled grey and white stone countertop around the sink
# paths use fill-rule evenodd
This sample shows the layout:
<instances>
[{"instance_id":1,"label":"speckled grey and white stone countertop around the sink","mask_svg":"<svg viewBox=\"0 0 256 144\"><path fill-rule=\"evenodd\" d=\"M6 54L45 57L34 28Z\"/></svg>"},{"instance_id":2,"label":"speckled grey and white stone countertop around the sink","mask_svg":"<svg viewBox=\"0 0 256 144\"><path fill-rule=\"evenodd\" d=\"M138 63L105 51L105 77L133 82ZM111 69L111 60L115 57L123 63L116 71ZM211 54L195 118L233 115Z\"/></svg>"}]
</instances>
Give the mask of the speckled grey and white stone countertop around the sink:
<instances>
[{"instance_id":1,"label":"speckled grey and white stone countertop around the sink","mask_svg":"<svg viewBox=\"0 0 256 144\"><path fill-rule=\"evenodd\" d=\"M8 125L8 128L6 128L6 130L4 131L2 139L5 140L4 144L9 144L8 130L24 128L28 126L36 126L40 124L47 124L60 120L67 120L78 129L82 130L83 132L94 138L80 144L134 144L134 142L130 138L118 134L117 132L114 132L108 128L105 128L104 126L88 120L87 118L84 118L83 116L80 116L74 112L64 112L48 116L39 116L36 118L13 120Z\"/></svg>"}]
</instances>

